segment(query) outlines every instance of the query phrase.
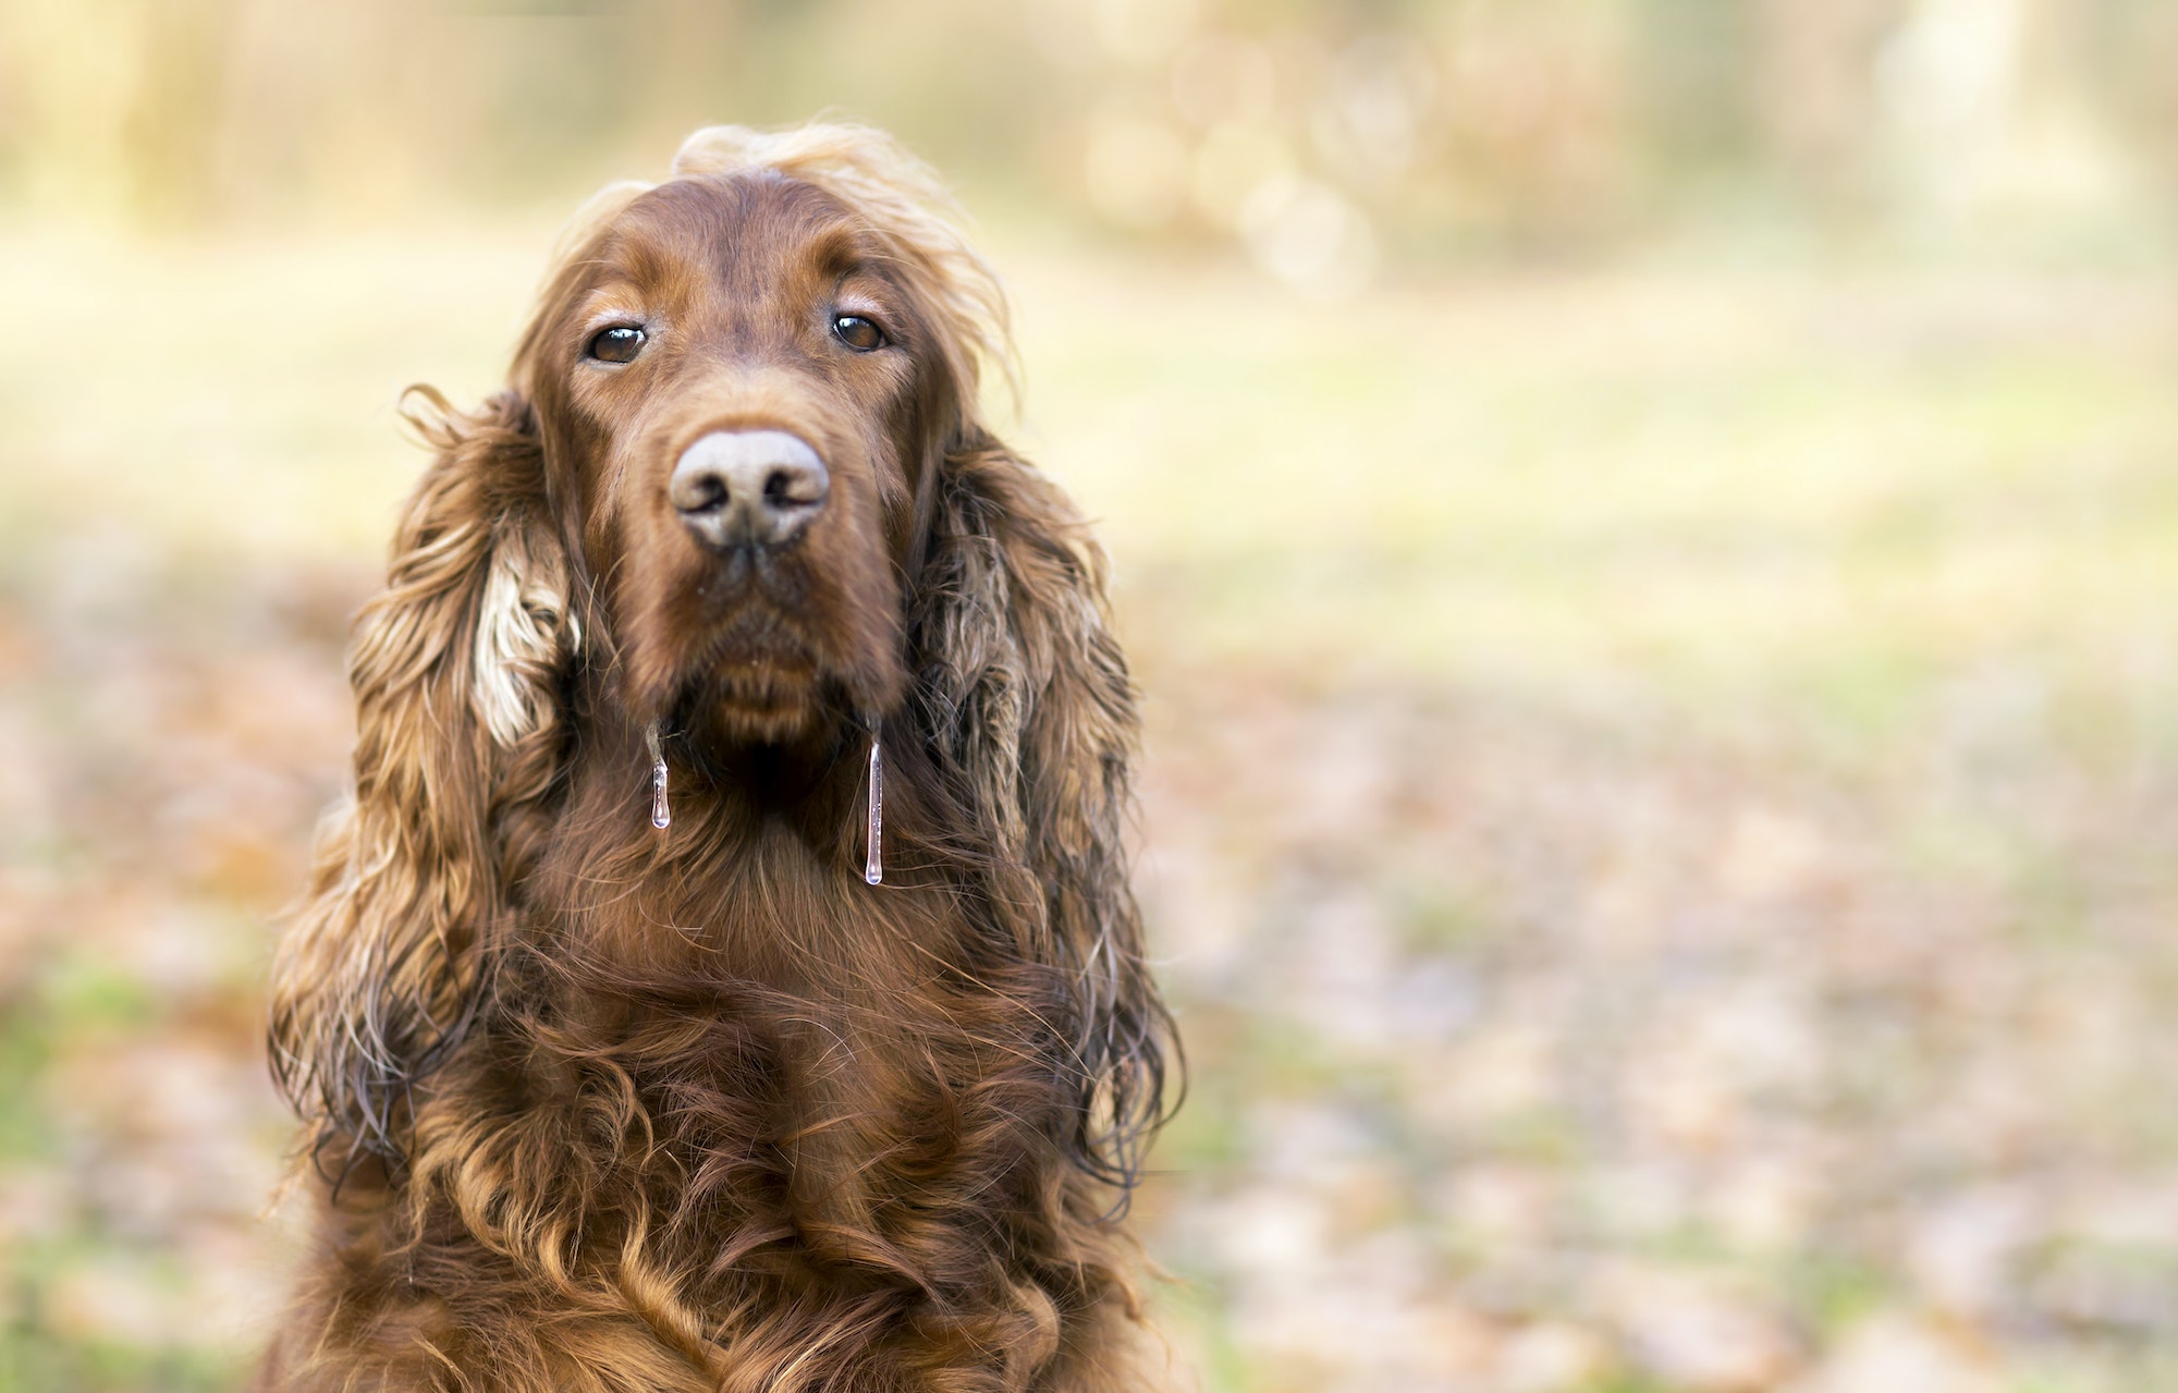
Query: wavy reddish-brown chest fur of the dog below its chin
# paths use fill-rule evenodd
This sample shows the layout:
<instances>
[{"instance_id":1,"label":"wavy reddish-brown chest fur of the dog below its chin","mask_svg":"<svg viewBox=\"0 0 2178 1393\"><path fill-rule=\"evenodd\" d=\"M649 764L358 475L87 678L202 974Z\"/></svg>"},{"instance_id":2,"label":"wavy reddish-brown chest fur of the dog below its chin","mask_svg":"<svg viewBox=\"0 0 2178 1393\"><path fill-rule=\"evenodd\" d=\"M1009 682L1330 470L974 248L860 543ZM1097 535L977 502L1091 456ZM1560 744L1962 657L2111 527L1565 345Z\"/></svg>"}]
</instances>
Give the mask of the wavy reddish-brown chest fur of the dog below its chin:
<instances>
[{"instance_id":1,"label":"wavy reddish-brown chest fur of the dog below its chin","mask_svg":"<svg viewBox=\"0 0 2178 1393\"><path fill-rule=\"evenodd\" d=\"M662 1345L682 1369L845 1330L862 1376L1050 1347L1098 1293L1008 1260L1050 1247L1065 1171L1035 975L976 962L952 892L828 914L880 892L784 825L695 862L714 875L547 858L558 908L531 912L418 1097L405 1193L351 1228L351 1260L379 1273L351 1295L451 1349L503 1323L470 1293L534 1289L562 1334L588 1321L584 1339Z\"/></svg>"}]
</instances>

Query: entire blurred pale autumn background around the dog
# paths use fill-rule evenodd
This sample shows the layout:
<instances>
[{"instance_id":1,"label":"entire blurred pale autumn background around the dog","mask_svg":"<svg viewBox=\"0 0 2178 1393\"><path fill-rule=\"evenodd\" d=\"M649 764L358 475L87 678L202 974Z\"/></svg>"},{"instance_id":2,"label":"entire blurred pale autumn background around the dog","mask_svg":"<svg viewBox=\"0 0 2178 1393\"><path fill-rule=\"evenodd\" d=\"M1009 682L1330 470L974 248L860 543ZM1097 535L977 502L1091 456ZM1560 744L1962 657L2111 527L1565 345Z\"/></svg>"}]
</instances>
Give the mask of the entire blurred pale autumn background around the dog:
<instances>
[{"instance_id":1,"label":"entire blurred pale autumn background around the dog","mask_svg":"<svg viewBox=\"0 0 2178 1393\"><path fill-rule=\"evenodd\" d=\"M283 1289L396 392L821 109L1117 562L1204 1389L2178 1386L2169 0L0 0L0 1393Z\"/></svg>"}]
</instances>

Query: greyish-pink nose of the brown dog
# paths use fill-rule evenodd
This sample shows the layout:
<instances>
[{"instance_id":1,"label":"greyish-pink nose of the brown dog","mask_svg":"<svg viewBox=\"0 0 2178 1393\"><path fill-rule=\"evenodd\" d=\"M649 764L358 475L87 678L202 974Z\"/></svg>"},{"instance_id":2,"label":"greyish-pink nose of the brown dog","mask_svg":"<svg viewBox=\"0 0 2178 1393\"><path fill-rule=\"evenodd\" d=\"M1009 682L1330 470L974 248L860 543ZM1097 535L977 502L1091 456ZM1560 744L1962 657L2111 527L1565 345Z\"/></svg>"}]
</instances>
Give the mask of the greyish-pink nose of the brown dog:
<instances>
[{"instance_id":1,"label":"greyish-pink nose of the brown dog","mask_svg":"<svg viewBox=\"0 0 2178 1393\"><path fill-rule=\"evenodd\" d=\"M706 546L784 546L823 511L832 474L799 435L712 431L682 451L666 492Z\"/></svg>"}]
</instances>

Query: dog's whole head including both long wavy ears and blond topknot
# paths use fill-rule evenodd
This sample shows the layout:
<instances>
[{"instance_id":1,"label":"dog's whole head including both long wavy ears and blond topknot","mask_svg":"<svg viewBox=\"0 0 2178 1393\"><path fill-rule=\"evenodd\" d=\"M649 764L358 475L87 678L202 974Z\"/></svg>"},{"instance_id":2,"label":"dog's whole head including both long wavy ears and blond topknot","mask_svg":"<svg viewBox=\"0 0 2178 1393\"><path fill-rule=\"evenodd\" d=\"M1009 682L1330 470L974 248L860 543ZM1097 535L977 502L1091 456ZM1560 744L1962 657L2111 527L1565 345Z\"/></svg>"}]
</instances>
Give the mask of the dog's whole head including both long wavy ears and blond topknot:
<instances>
[{"instance_id":1,"label":"dog's whole head including both long wavy ears and blond topknot","mask_svg":"<svg viewBox=\"0 0 2178 1393\"><path fill-rule=\"evenodd\" d=\"M320 1145L399 1167L571 749L878 720L960 823L932 873L987 882L963 903L1063 984L1076 1160L1133 1173L1163 1086L1119 849L1133 694L1098 551L978 418L1004 305L943 209L871 131L697 133L577 218L505 392L425 392L438 459L351 655L355 799L274 969L274 1071ZM653 836L645 766L625 784L623 836Z\"/></svg>"}]
</instances>

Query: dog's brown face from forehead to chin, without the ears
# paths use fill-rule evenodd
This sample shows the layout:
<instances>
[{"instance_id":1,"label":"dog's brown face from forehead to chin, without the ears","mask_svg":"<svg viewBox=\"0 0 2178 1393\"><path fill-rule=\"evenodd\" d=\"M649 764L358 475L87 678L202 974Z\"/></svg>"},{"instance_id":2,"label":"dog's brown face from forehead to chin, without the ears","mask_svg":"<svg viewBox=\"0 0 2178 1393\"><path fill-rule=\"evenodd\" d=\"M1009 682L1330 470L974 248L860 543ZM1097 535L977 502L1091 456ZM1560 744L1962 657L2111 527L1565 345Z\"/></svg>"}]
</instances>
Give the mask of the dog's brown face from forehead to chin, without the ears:
<instances>
[{"instance_id":1,"label":"dog's brown face from forehead to chin, without the ears","mask_svg":"<svg viewBox=\"0 0 2178 1393\"><path fill-rule=\"evenodd\" d=\"M900 699L956 370L876 229L778 174L660 185L562 272L523 366L632 712L754 744Z\"/></svg>"}]
</instances>

